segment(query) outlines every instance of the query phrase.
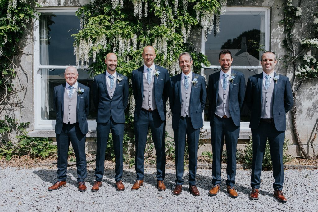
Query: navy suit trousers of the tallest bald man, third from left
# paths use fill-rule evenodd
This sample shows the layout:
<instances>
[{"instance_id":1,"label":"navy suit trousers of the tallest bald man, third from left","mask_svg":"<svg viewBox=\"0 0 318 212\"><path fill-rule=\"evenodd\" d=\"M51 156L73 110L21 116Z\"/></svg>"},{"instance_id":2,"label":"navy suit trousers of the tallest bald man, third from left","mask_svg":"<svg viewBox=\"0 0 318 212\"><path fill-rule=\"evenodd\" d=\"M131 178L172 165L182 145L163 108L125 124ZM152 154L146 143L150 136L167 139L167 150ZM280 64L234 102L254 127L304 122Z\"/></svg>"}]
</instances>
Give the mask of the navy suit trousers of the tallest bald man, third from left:
<instances>
[{"instance_id":1,"label":"navy suit trousers of the tallest bald man, third from left","mask_svg":"<svg viewBox=\"0 0 318 212\"><path fill-rule=\"evenodd\" d=\"M157 109L153 111L145 111L142 109L138 120L134 123L134 126L136 149L135 170L137 180L143 180L144 178L145 147L149 128L151 130L152 139L156 149L156 177L157 180L163 180L166 166L164 146L165 121L161 120Z\"/></svg>"}]
</instances>

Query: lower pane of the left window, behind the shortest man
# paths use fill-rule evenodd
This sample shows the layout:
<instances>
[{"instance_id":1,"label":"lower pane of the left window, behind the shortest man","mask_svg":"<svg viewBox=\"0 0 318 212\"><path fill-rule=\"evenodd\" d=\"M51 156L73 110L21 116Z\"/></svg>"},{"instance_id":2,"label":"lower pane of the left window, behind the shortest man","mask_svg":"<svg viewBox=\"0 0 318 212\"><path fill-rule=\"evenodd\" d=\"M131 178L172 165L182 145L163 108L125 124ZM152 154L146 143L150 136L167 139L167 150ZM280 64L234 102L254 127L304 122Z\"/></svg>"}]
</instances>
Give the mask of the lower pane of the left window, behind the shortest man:
<instances>
[{"instance_id":1,"label":"lower pane of the left window, behind the shortest man","mask_svg":"<svg viewBox=\"0 0 318 212\"><path fill-rule=\"evenodd\" d=\"M53 92L57 85L65 84L64 69L40 69L41 72L41 120L55 120L56 113L53 107ZM89 77L89 71L78 69L78 82L92 87L93 79ZM96 112L92 102L92 89L90 89L90 110L88 120L96 120Z\"/></svg>"}]
</instances>

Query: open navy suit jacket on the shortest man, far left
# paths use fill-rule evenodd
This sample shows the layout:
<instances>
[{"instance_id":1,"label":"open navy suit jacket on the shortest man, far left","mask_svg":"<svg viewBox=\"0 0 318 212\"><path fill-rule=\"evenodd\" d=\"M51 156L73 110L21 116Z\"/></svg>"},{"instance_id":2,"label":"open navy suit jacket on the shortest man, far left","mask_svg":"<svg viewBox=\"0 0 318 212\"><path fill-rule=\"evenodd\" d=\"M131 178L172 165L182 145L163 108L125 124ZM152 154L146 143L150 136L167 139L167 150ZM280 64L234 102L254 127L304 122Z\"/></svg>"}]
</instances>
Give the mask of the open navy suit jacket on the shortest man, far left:
<instances>
[{"instance_id":1,"label":"open navy suit jacket on the shortest man, far left","mask_svg":"<svg viewBox=\"0 0 318 212\"><path fill-rule=\"evenodd\" d=\"M55 133L60 134L63 127L63 115L64 115L64 92L65 85L58 85L54 87L54 111L56 112L56 122L55 122ZM88 132L87 127L87 117L89 112L89 87L80 84L78 82L78 88L76 89L84 89L84 93L78 94L77 92L73 95L77 96L76 103L76 116L79 123L79 128L82 134L86 134Z\"/></svg>"}]
</instances>

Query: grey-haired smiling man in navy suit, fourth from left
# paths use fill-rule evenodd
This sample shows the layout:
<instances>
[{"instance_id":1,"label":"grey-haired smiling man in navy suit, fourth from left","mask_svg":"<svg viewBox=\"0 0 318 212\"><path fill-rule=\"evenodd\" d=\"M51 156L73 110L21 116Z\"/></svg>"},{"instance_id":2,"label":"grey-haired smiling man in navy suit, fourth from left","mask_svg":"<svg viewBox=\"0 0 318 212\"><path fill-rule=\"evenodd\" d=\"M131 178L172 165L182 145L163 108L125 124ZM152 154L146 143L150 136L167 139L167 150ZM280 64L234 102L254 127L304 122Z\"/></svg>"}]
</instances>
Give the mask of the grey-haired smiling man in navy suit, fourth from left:
<instances>
[{"instance_id":1,"label":"grey-haired smiling man in navy suit, fourth from left","mask_svg":"<svg viewBox=\"0 0 318 212\"><path fill-rule=\"evenodd\" d=\"M206 100L206 84L203 76L191 71L191 55L183 52L178 58L182 73L171 77L172 92L169 102L172 111L172 128L176 145L176 187L173 195L180 195L183 185L183 157L185 141L189 150L189 190L199 196L196 187L197 148L200 128L203 127L202 112Z\"/></svg>"}]
</instances>

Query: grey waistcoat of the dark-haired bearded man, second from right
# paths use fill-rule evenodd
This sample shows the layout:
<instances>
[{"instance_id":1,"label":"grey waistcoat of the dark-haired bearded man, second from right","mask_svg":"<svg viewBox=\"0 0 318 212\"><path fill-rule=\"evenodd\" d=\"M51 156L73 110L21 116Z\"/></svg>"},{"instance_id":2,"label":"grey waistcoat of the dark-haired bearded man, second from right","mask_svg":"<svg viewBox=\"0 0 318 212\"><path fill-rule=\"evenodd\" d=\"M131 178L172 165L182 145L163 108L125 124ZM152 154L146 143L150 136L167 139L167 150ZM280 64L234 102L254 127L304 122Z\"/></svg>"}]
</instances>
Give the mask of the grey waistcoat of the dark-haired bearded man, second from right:
<instances>
[{"instance_id":1,"label":"grey waistcoat of the dark-haired bearded man, second from right","mask_svg":"<svg viewBox=\"0 0 318 212\"><path fill-rule=\"evenodd\" d=\"M226 89L223 89L221 79L219 80L219 90L218 90L218 102L217 107L215 109L215 114L219 117L223 117L224 115L227 116L227 118L231 117L230 114L230 106L229 106L229 89L230 89L230 83L229 82L226 86Z\"/></svg>"}]
</instances>

